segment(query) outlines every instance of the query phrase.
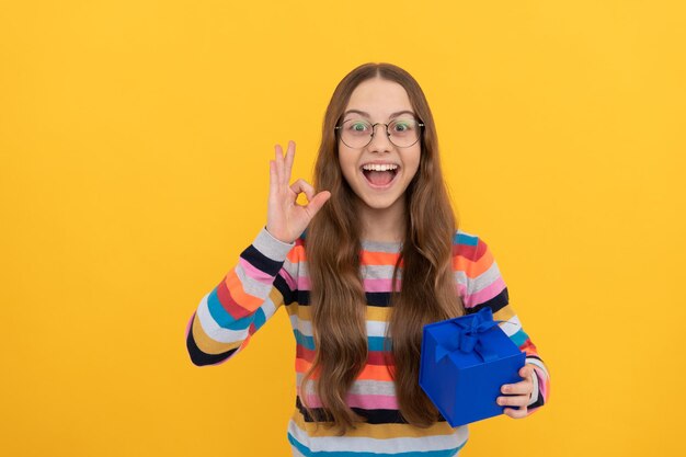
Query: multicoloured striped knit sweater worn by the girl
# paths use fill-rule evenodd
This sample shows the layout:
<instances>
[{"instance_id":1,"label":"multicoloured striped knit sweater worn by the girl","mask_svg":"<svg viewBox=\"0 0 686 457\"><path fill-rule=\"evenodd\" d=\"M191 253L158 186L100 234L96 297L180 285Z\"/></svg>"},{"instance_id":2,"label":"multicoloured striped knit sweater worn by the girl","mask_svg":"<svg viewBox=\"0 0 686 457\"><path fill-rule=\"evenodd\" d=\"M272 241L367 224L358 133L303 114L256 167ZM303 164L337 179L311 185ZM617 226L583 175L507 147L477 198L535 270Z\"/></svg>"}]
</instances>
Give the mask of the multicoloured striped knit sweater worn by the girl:
<instances>
[{"instance_id":1,"label":"multicoloured striped knit sweater worn by the girl","mask_svg":"<svg viewBox=\"0 0 686 457\"><path fill-rule=\"evenodd\" d=\"M283 306L290 317L295 336L296 382L300 391L302 376L310 368L316 351L304 242L300 238L295 243L284 243L262 229L241 253L238 264L203 297L191 318L186 346L194 364L215 365L235 356ZM445 420L427 429L408 424L399 413L395 385L385 362L391 277L401 245L363 241L362 248L368 358L351 388L347 403L366 422L338 436L333 430L317 427L296 396L296 408L288 424L293 454L308 457L455 456L467 442L467 425L453 429ZM511 322L501 327L526 353L526 362L535 370L534 395L528 407L528 414L531 414L548 398L548 370L508 305L507 287L483 240L457 230L453 269L467 312L490 307L493 319ZM311 382L308 388L310 407L316 408L320 403Z\"/></svg>"}]
</instances>

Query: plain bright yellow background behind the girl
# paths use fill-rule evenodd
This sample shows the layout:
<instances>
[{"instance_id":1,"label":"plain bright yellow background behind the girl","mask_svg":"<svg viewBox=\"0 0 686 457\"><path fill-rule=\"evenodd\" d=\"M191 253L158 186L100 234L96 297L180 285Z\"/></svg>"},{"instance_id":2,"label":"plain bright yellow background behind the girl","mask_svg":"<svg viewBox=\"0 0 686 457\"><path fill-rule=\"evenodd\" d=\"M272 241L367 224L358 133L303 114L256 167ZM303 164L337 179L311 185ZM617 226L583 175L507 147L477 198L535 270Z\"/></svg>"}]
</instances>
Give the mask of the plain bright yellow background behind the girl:
<instances>
[{"instance_id":1,"label":"plain bright yellow background behind the girl","mask_svg":"<svg viewBox=\"0 0 686 457\"><path fill-rule=\"evenodd\" d=\"M288 455L285 313L218 367L185 325L265 222L273 145L309 178L338 81L390 61L552 374L460 455L684 455L685 12L3 1L0 454Z\"/></svg>"}]
</instances>

